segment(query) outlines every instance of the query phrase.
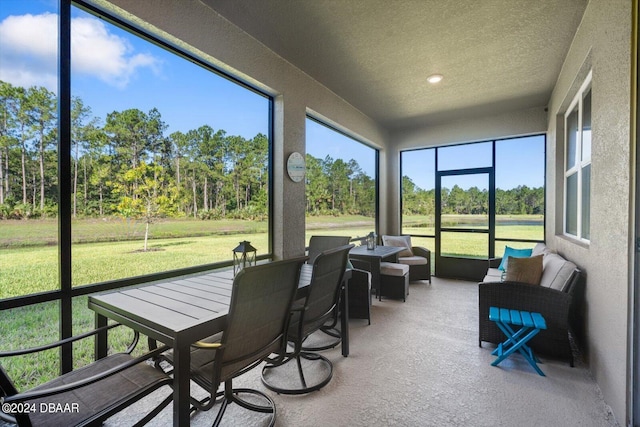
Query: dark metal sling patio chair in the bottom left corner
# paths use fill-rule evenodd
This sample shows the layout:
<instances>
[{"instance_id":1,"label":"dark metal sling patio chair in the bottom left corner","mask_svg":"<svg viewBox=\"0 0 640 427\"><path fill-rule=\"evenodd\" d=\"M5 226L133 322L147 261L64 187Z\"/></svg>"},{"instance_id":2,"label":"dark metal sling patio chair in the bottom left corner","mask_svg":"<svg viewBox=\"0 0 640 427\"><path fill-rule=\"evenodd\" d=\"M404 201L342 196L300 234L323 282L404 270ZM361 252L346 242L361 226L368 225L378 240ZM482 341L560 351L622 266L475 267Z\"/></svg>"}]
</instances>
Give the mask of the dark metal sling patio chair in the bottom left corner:
<instances>
[{"instance_id":1,"label":"dark metal sling patio chair in the bottom left corner","mask_svg":"<svg viewBox=\"0 0 640 427\"><path fill-rule=\"evenodd\" d=\"M75 337L27 350L0 353L0 358L32 354L72 343L98 332L105 331L118 324L105 326ZM138 333L124 353L117 353L93 362L75 371L66 373L29 391L18 392L6 371L0 366L0 397L5 406L33 408L31 411L17 413L0 412L0 419L19 426L93 426L101 425L104 420L145 397L152 391L168 385L172 379L168 375L144 363L156 356L166 347L161 347L139 357L131 356L138 343ZM172 400L169 393L156 408L144 416L136 426L148 423ZM41 411L41 404L61 405L65 411ZM23 406L27 405L27 406ZM132 423L133 425L133 423Z\"/></svg>"}]
</instances>

